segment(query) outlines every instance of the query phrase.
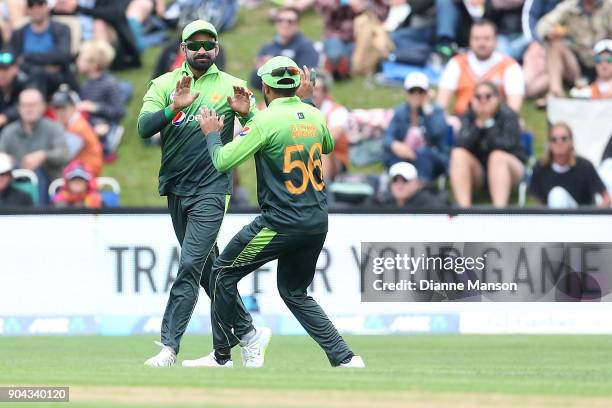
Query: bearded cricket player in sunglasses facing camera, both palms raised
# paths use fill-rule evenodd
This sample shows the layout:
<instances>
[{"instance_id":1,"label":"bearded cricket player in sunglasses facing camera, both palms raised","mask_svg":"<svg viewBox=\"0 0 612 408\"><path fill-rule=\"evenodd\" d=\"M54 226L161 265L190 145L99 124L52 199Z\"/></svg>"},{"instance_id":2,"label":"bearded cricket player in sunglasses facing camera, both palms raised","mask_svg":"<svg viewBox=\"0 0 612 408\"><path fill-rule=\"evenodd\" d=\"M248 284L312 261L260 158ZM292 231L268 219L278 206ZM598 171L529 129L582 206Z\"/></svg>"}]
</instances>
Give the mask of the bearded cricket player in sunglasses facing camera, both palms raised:
<instances>
[{"instance_id":1,"label":"bearded cricket player in sunglasses facing camera, both palms raised","mask_svg":"<svg viewBox=\"0 0 612 408\"><path fill-rule=\"evenodd\" d=\"M218 254L217 235L232 188L231 173L220 173L212 164L198 111L207 107L225 116L219 139L227 143L233 137L235 115L244 124L255 110L254 98L234 97L234 89L243 90L246 82L219 71L214 64L219 43L212 24L203 20L188 24L180 47L185 63L151 81L138 116L142 138L161 132L159 193L168 197L172 225L181 245L179 269L162 322L162 350L145 362L155 367L176 363L200 285L210 296L210 271ZM252 332L251 316L239 297L234 300L236 334Z\"/></svg>"}]
</instances>

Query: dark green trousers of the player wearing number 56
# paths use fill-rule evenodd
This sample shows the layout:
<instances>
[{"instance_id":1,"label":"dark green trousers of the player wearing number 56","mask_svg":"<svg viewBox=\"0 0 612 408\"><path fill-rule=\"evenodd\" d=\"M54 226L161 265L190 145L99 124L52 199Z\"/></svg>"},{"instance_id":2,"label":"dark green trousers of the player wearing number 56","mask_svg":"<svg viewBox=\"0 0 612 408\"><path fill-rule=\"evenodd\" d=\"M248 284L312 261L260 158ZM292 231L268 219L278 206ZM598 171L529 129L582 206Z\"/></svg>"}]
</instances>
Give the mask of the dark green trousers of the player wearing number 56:
<instances>
[{"instance_id":1,"label":"dark green trousers of the player wearing number 56","mask_svg":"<svg viewBox=\"0 0 612 408\"><path fill-rule=\"evenodd\" d=\"M317 302L307 294L327 233L280 234L265 227L261 217L229 242L211 275L211 323L215 350L227 350L241 337L238 282L265 263L278 259L278 292L306 332L323 348L334 366L352 353Z\"/></svg>"}]
</instances>

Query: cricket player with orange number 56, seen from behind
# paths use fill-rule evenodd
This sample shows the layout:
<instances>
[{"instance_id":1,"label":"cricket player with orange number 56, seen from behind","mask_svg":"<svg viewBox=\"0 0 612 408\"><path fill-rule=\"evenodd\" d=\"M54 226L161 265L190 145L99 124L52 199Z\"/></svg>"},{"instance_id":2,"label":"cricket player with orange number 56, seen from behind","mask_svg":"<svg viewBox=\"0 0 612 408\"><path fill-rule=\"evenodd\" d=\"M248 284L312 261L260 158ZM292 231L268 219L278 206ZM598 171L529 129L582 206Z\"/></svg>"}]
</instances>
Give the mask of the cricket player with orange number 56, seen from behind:
<instances>
[{"instance_id":1,"label":"cricket player with orange number 56, seen from behind","mask_svg":"<svg viewBox=\"0 0 612 408\"><path fill-rule=\"evenodd\" d=\"M198 367L232 367L230 350L251 344L247 367L261 367L269 333L254 330L246 336L236 326L240 317L238 281L265 263L278 259L278 291L308 334L323 348L332 366L363 368L325 312L308 296L319 253L327 235L327 200L322 179L322 154L331 153L334 140L323 114L296 95L307 75L293 60L274 57L257 72L263 82L267 109L247 123L241 136L224 145L223 114L204 107L200 127L215 168L230 171L255 155L257 189L262 214L229 242L213 266L211 320L214 351ZM187 362L185 362L187 363Z\"/></svg>"}]
</instances>

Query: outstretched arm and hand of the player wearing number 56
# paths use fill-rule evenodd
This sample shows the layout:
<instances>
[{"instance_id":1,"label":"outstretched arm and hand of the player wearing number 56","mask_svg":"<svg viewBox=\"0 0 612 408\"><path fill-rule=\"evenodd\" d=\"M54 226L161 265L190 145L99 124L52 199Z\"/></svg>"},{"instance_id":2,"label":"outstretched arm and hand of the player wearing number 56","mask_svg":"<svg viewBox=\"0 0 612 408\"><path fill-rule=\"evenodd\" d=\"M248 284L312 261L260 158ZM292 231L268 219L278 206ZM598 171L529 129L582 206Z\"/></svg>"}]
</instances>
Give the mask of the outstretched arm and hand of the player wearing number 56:
<instances>
[{"instance_id":1,"label":"outstretched arm and hand of the player wearing number 56","mask_svg":"<svg viewBox=\"0 0 612 408\"><path fill-rule=\"evenodd\" d=\"M223 116L218 118L214 110L200 109L200 128L206 137L211 161L221 173L226 173L239 166L263 146L263 137L257 127L249 128L248 124L241 136L225 146L221 143L220 132L223 129Z\"/></svg>"}]
</instances>

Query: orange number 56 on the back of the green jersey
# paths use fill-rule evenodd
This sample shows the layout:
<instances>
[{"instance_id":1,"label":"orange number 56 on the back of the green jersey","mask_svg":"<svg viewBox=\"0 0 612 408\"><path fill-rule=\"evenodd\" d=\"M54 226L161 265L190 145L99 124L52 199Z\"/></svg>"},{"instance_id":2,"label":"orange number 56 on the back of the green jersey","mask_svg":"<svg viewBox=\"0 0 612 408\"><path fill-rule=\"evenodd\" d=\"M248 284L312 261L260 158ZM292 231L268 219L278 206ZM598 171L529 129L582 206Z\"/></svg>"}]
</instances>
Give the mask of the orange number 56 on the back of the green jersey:
<instances>
[{"instance_id":1,"label":"orange number 56 on the back of the green jersey","mask_svg":"<svg viewBox=\"0 0 612 408\"><path fill-rule=\"evenodd\" d=\"M285 162L283 166L283 173L291 173L292 170L297 169L302 173L302 184L295 186L291 180L285 180L285 187L291 194L302 194L308 187L308 182L312 183L312 187L316 191L323 190L325 183L318 181L315 176L315 169L319 169L319 177L323 177L323 165L321 164L321 154L323 149L321 143L315 143L308 152L308 164L304 163L303 160L297 158L293 160L293 154L303 152L305 150L304 145L291 145L285 148ZM318 154L317 154L318 152Z\"/></svg>"}]
</instances>

